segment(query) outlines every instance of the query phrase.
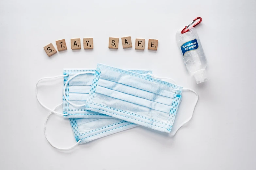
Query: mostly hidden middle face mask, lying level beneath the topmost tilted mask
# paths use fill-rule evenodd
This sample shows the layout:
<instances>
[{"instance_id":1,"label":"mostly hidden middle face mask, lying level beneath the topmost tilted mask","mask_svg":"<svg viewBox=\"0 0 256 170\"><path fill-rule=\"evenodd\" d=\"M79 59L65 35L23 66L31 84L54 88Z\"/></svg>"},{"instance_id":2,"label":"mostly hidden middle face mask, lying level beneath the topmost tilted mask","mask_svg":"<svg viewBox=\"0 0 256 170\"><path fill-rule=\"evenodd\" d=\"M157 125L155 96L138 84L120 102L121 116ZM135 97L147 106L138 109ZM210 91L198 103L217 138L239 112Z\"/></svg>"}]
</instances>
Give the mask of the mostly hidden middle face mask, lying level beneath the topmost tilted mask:
<instances>
[{"instance_id":1,"label":"mostly hidden middle face mask, lying level beneath the topmost tilted mask","mask_svg":"<svg viewBox=\"0 0 256 170\"><path fill-rule=\"evenodd\" d=\"M144 75L147 73L152 74L152 71L147 70L129 71ZM88 110L84 107L91 89L94 73L95 69L63 70L63 75L66 75L63 81L63 91L65 94L63 94L63 114L65 118L113 118L99 112Z\"/></svg>"}]
</instances>

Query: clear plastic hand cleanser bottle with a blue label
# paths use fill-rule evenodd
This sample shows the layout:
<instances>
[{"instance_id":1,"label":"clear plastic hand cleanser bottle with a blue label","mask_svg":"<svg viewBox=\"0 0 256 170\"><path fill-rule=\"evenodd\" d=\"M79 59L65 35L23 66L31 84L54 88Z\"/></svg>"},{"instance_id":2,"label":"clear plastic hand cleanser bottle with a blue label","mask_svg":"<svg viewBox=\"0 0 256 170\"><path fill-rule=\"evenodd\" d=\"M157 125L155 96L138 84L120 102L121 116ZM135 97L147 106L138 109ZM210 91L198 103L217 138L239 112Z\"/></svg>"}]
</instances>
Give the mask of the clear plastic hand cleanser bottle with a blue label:
<instances>
[{"instance_id":1,"label":"clear plastic hand cleanser bottle with a blue label","mask_svg":"<svg viewBox=\"0 0 256 170\"><path fill-rule=\"evenodd\" d=\"M196 29L190 27L188 32L181 34L183 28L177 31L176 42L184 64L188 71L194 74L197 84L207 81L209 79L205 71L207 61Z\"/></svg>"}]
</instances>

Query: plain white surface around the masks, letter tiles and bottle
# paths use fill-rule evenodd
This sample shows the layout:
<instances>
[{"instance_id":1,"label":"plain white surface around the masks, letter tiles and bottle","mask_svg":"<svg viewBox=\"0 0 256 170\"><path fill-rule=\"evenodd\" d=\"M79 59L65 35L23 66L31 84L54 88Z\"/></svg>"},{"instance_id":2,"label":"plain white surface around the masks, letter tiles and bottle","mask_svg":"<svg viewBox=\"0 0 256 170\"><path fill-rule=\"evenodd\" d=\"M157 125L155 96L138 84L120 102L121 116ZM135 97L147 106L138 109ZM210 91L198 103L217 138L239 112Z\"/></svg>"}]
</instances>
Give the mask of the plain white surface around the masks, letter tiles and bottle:
<instances>
[{"instance_id":1,"label":"plain white surface around the masks, letter tiles and bottle","mask_svg":"<svg viewBox=\"0 0 256 170\"><path fill-rule=\"evenodd\" d=\"M1 1L0 169L246 169L256 168L256 2L214 1ZM183 64L176 31L194 18L208 59L208 82L197 85ZM108 48L119 37L118 50ZM123 49L121 37L133 47ZM93 37L93 50L71 50L70 39ZM145 38L144 51L134 49ZM148 39L158 50L147 50ZM65 39L68 50L48 57L43 47ZM135 127L70 151L54 149L43 134L48 111L36 100L41 77L63 68L151 69L199 94L192 120L174 137ZM63 79L43 81L39 95L53 108L62 102ZM175 125L191 114L195 95L183 92ZM61 112L61 109L59 110ZM53 115L47 124L55 145L76 141L69 121ZM175 127L174 127L175 128Z\"/></svg>"}]
</instances>

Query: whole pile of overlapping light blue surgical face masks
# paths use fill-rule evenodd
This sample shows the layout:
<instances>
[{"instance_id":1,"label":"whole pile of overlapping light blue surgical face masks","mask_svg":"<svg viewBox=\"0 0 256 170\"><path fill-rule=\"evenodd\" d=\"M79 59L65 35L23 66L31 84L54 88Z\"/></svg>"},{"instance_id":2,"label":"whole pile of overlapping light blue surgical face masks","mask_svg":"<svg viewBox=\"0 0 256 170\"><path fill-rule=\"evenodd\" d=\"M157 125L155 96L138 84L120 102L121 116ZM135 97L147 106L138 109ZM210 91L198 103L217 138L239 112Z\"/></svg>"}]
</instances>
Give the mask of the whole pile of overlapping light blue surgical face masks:
<instances>
[{"instance_id":1,"label":"whole pile of overlapping light blue surgical face masks","mask_svg":"<svg viewBox=\"0 0 256 170\"><path fill-rule=\"evenodd\" d=\"M96 70L65 69L61 76L41 78L36 84L36 96L39 103L51 113L69 118L77 143L65 149L137 125L170 133L182 91L194 92L196 103L198 94L194 90L162 81L160 79L166 78L151 73L144 70L128 71L104 64L97 64ZM37 92L41 80L58 77L64 77L63 113L43 105ZM44 133L47 141L57 148L46 135L46 122L51 113L44 123ZM179 128L191 120L192 115Z\"/></svg>"}]
</instances>

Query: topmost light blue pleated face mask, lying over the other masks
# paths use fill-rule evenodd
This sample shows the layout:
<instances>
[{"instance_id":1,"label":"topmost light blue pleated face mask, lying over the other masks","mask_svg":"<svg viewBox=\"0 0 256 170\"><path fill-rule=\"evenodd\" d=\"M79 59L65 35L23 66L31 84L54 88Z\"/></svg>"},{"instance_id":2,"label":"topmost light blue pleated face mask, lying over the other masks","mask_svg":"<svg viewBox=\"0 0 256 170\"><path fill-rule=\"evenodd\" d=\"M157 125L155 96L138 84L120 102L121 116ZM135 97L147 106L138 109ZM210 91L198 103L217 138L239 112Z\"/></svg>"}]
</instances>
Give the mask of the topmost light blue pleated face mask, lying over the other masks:
<instances>
[{"instance_id":1,"label":"topmost light blue pleated face mask, lying over the other masks","mask_svg":"<svg viewBox=\"0 0 256 170\"><path fill-rule=\"evenodd\" d=\"M131 71L97 64L85 107L87 110L170 133L184 90L194 92L197 103L198 94L191 89L184 89Z\"/></svg>"}]
</instances>

